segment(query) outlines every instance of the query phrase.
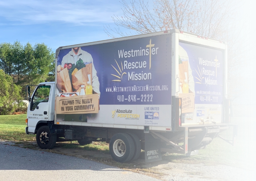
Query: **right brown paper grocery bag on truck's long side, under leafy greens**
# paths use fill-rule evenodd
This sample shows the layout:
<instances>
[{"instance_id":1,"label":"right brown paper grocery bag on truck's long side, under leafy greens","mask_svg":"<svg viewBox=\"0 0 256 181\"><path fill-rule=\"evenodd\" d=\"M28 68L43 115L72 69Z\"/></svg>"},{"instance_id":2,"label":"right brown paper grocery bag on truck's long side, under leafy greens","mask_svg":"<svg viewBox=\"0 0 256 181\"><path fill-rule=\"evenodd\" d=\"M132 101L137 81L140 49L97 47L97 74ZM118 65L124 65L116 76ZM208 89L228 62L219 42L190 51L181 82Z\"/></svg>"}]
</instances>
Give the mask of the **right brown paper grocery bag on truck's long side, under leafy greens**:
<instances>
[{"instance_id":1,"label":"right brown paper grocery bag on truck's long side, under leafy greens","mask_svg":"<svg viewBox=\"0 0 256 181\"><path fill-rule=\"evenodd\" d=\"M81 68L74 75L72 75L73 88L76 90L78 90L78 88L80 88L81 85L86 86L88 81L89 79L86 67Z\"/></svg>"}]
</instances>

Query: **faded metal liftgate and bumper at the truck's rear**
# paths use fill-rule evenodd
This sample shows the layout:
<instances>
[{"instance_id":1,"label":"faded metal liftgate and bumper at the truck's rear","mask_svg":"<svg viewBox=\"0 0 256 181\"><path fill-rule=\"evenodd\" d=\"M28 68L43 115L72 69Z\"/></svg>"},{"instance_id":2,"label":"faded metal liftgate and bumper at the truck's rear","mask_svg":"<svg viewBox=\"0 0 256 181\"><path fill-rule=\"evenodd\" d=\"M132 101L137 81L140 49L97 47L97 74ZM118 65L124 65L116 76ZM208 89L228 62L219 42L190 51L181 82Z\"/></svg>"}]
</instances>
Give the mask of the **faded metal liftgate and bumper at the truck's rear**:
<instances>
[{"instance_id":1,"label":"faded metal liftgate and bumper at the truck's rear","mask_svg":"<svg viewBox=\"0 0 256 181\"><path fill-rule=\"evenodd\" d=\"M227 140L219 134L233 127L233 139ZM154 138L161 140L161 151L168 153L181 153L192 155L195 150L204 149L211 141L220 137L229 144L234 144L237 135L237 125L229 123L186 125L180 126L176 132L149 132ZM147 143L145 143L147 144Z\"/></svg>"}]
</instances>

